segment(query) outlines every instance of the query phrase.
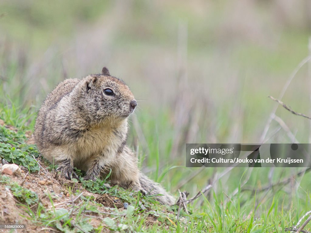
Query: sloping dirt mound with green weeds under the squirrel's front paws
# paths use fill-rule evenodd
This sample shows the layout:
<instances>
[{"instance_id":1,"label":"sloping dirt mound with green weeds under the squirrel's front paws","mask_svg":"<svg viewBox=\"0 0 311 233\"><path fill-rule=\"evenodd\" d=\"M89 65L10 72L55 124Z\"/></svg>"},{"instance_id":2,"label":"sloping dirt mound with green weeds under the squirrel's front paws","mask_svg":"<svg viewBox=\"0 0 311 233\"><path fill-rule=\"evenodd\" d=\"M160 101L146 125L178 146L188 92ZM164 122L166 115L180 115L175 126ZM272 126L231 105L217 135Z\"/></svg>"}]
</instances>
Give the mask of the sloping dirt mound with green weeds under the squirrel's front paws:
<instances>
[{"instance_id":1,"label":"sloping dirt mound with green weeds under the squirrel's front paws","mask_svg":"<svg viewBox=\"0 0 311 233\"><path fill-rule=\"evenodd\" d=\"M48 162L37 157L35 146L30 145L34 143L30 131L21 133L12 126L4 125L1 120L0 127L5 139L3 143L0 141L0 152L6 151L5 157L0 154L2 158L7 158L8 161L11 159L11 162L20 161L16 159L34 159L34 167L29 167L30 163L25 161L21 164L28 166L27 168L21 164L19 167L16 165L19 172L2 169L3 166L14 166L2 165L7 162L0 161L0 224L26 224L26 229L16 230L18 232L90 232L102 226L107 226L101 229L102 232L109 232L111 229L118 231L118 227L125 227L120 223L122 218L133 215L134 210L135 214L146 211L146 226L161 224L157 219L158 212L153 213L155 211L148 200L139 199L136 203L133 193L117 186L111 187L104 180L97 180L99 183L96 184L81 181L82 184L76 179L60 178ZM23 157L25 145L30 146L31 151ZM17 150L20 157L14 157ZM36 151L36 156L32 154L33 151ZM137 196L137 193L134 195ZM160 212L164 213L162 210ZM81 215L87 216L82 223ZM75 228L74 231L72 227ZM0 232L7 230L0 229Z\"/></svg>"}]
</instances>

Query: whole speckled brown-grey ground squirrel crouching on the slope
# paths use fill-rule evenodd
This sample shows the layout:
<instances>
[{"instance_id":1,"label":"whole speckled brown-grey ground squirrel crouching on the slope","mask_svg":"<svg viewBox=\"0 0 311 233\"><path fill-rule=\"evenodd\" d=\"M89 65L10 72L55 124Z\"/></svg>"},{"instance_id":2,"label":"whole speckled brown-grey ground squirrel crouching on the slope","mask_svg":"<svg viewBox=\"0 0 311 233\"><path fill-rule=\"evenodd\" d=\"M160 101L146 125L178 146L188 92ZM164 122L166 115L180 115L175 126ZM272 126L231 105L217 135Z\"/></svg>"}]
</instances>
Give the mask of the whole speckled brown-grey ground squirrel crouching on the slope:
<instances>
[{"instance_id":1,"label":"whole speckled brown-grey ground squirrel crouching on the slope","mask_svg":"<svg viewBox=\"0 0 311 233\"><path fill-rule=\"evenodd\" d=\"M137 156L126 145L128 116L137 102L129 87L109 74L66 79L48 94L38 112L34 137L44 158L58 164L61 176L96 180L111 169L109 179L123 188L155 195L162 204L174 197L142 174Z\"/></svg>"}]
</instances>

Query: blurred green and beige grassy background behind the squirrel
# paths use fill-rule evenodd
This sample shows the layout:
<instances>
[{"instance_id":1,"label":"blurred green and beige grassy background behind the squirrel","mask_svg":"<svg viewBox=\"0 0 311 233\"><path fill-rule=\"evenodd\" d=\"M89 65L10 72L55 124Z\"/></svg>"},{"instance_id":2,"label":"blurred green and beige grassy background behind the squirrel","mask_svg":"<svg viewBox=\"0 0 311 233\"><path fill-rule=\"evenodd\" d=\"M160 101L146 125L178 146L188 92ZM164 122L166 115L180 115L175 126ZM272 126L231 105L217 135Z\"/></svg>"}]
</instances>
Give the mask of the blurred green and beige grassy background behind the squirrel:
<instances>
[{"instance_id":1,"label":"blurred green and beige grassy background behind the squirrel","mask_svg":"<svg viewBox=\"0 0 311 233\"><path fill-rule=\"evenodd\" d=\"M143 171L172 192L194 195L214 182L216 192L230 193L245 169L216 179L223 170L184 168L185 143L308 143L310 120L282 107L276 116L288 128L272 120L262 135L277 105L267 96L278 98L308 56L310 35L308 0L0 1L0 117L32 129L58 82L107 66L139 101L128 144ZM282 98L306 115L309 69L299 70ZM254 169L247 185L297 170L286 169ZM302 178L281 195L310 185Z\"/></svg>"}]
</instances>

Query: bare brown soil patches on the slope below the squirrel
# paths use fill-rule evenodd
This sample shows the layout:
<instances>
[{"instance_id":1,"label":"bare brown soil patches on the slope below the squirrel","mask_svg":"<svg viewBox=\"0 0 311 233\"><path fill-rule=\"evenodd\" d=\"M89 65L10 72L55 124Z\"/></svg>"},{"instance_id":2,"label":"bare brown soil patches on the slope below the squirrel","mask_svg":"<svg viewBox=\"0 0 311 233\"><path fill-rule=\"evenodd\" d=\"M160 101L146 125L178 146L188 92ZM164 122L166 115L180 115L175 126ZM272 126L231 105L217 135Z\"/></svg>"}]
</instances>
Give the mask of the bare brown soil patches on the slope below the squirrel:
<instances>
[{"instance_id":1,"label":"bare brown soil patches on the slope below the squirrel","mask_svg":"<svg viewBox=\"0 0 311 233\"><path fill-rule=\"evenodd\" d=\"M0 124L3 124L0 122ZM6 126L7 128L14 130L12 126ZM33 139L28 136L28 144L33 144ZM66 206L68 203L72 204L72 201L75 200L76 196L71 193L76 193L77 189L80 190L84 197L92 196L97 203L103 205L103 207L96 206L100 212L112 212L114 209L119 209L120 211L124 210L124 203L122 200L117 199L116 197L110 196L109 194L94 194L81 187L79 183L75 183L71 180L66 180L64 178L59 178L55 176L55 172L49 171L49 166L46 162L38 160L40 164L40 171L38 173L28 173L26 169L21 167L21 175L6 175L10 176L12 180L15 180L20 186L25 187L26 189L32 190L38 194L40 202L44 205L44 208L52 208L52 204L49 196L53 199L53 205L61 207ZM71 193L69 193L71 191ZM79 204L81 197L79 197L75 204ZM40 225L35 225L33 222L27 219L28 214L26 213L26 207L21 205L25 203L20 203L12 194L6 185L0 185L0 224L26 224L26 229L13 230L13 232L60 232L56 228L45 227ZM35 213L37 210L38 203L34 204L30 209ZM109 208L107 208L109 207ZM111 209L110 209L111 208ZM91 220L92 226L96 227L100 224L101 219L105 217L111 217L109 214L97 214L95 212L87 213L89 216L93 216ZM146 225L159 224L156 217L149 215L146 219ZM103 229L103 232L109 232L109 229ZM0 229L0 232L9 232L8 230Z\"/></svg>"}]
</instances>

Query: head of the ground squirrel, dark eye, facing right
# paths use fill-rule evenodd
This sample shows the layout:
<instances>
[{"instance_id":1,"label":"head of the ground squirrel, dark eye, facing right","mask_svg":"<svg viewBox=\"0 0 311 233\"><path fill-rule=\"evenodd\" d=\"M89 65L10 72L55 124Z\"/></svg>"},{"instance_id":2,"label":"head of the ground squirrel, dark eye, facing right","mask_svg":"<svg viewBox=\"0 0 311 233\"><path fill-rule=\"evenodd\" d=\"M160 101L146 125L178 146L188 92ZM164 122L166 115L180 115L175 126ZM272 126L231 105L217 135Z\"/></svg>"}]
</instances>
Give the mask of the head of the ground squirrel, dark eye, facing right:
<instances>
[{"instance_id":1,"label":"head of the ground squirrel, dark eye, facing right","mask_svg":"<svg viewBox=\"0 0 311 233\"><path fill-rule=\"evenodd\" d=\"M110 76L106 67L102 74L89 75L81 84L79 105L89 113L90 120L124 120L137 106L129 87L121 79Z\"/></svg>"}]
</instances>

